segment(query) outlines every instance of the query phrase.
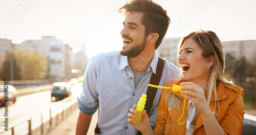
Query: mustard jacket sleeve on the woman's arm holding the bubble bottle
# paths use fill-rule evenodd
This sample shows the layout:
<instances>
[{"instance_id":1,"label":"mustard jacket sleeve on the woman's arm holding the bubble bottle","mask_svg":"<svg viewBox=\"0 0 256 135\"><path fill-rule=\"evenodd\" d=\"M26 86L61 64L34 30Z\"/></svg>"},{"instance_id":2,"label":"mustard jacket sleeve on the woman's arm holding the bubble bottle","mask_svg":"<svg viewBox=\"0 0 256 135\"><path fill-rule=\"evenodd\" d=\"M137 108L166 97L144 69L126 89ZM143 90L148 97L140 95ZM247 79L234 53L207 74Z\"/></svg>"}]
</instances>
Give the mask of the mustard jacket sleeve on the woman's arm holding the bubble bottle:
<instances>
[{"instance_id":1,"label":"mustard jacket sleeve on the woman's arm holding the bubble bottle","mask_svg":"<svg viewBox=\"0 0 256 135\"><path fill-rule=\"evenodd\" d=\"M156 128L155 132L158 134L164 134L164 129L166 125L166 115L168 115L168 111L166 109L165 104L165 96L166 96L166 89L163 89L161 92L161 99L157 109L157 120L156 120Z\"/></svg>"}]
</instances>

